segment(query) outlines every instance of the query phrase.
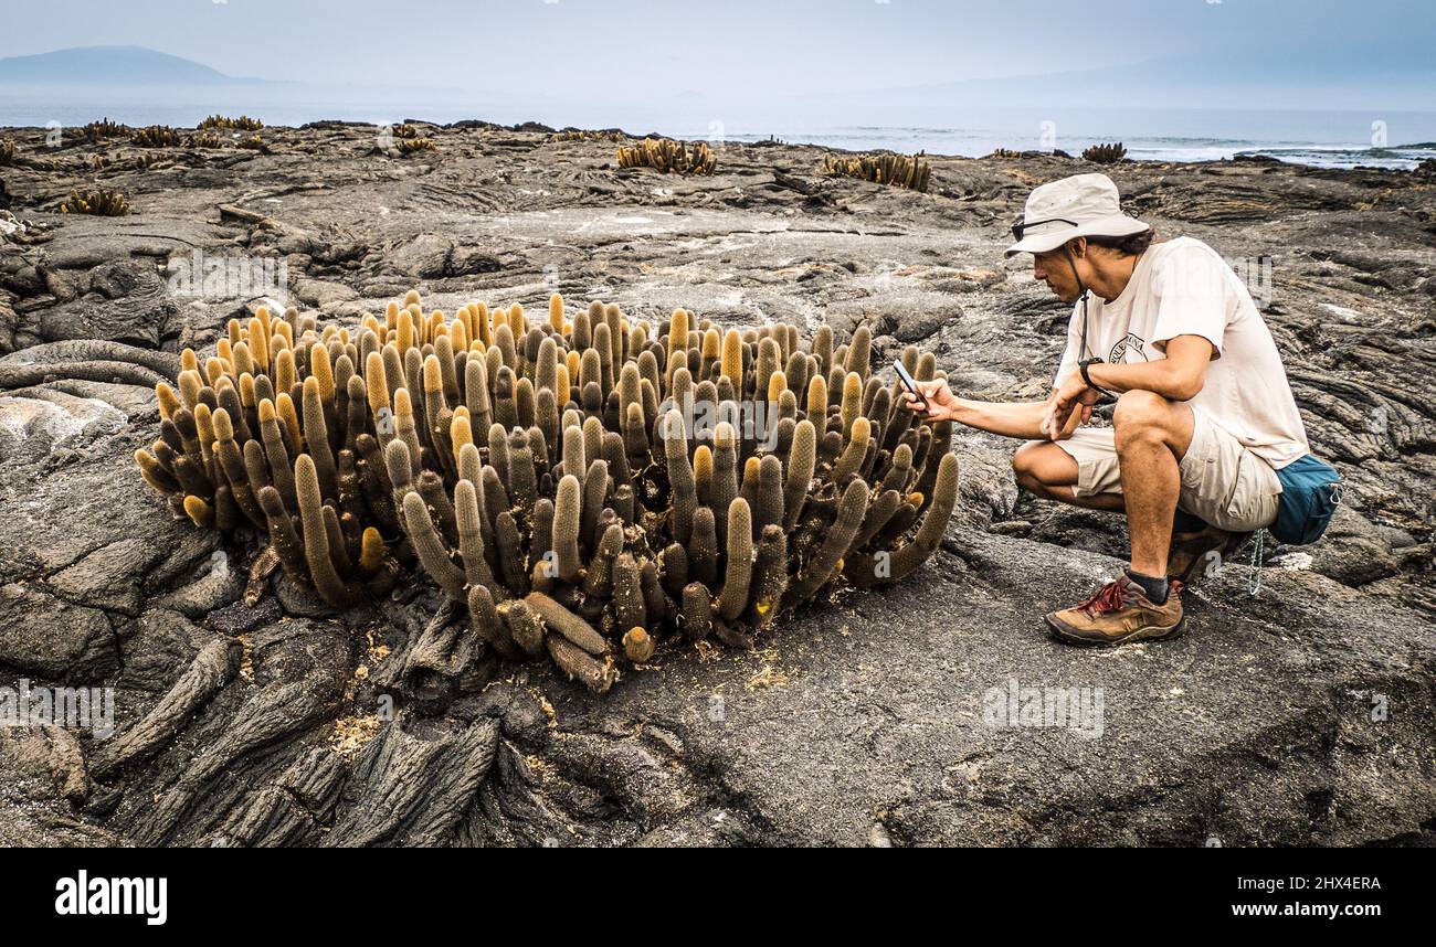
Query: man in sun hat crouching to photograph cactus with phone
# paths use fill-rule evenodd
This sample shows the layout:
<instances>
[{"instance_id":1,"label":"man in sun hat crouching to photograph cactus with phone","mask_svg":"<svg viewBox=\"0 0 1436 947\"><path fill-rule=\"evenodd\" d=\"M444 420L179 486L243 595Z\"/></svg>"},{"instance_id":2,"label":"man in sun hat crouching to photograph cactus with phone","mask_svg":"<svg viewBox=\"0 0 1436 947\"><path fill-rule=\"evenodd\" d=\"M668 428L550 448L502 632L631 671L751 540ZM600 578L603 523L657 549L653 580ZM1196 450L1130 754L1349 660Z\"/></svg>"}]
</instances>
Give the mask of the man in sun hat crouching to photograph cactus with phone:
<instances>
[{"instance_id":1,"label":"man in sun hat crouching to photograph cactus with phone","mask_svg":"<svg viewBox=\"0 0 1436 947\"><path fill-rule=\"evenodd\" d=\"M1183 583L1277 519L1277 469L1310 453L1281 356L1231 267L1198 240L1153 242L1106 175L1034 189L1012 232L1007 255L1032 254L1032 274L1074 303L1053 392L989 403L925 382L926 413L1028 439L1012 468L1038 496L1126 514L1130 568L1048 614L1053 634L1175 637ZM1117 402L1111 428L1084 426L1104 395ZM912 395L908 406L920 410Z\"/></svg>"}]
</instances>

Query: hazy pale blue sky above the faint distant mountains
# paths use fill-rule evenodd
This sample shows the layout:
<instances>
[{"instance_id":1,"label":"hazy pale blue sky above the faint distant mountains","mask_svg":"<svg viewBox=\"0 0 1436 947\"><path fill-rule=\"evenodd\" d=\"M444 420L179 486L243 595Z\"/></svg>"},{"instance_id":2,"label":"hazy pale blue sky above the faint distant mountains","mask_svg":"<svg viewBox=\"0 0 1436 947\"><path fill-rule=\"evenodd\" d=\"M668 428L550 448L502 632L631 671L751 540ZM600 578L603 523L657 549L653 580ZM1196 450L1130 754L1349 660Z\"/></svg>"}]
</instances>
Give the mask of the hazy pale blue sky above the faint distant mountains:
<instances>
[{"instance_id":1,"label":"hazy pale blue sky above the faint distant mountains","mask_svg":"<svg viewBox=\"0 0 1436 947\"><path fill-rule=\"evenodd\" d=\"M231 76L538 95L882 89L1232 49L1379 75L1436 42L1432 0L0 0L0 56L135 44Z\"/></svg>"}]
</instances>

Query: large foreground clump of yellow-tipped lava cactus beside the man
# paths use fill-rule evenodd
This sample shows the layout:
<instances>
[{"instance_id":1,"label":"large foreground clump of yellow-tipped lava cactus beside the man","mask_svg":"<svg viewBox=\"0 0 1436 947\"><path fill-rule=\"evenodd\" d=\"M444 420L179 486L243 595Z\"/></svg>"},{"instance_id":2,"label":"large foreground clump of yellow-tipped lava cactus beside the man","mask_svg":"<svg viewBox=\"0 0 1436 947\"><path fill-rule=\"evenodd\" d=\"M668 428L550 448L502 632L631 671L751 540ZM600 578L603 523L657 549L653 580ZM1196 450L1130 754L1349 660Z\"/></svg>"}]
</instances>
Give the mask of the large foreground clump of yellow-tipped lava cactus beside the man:
<instances>
[{"instance_id":1,"label":"large foreground clump of yellow-tipped lava cactus beside the man","mask_svg":"<svg viewBox=\"0 0 1436 947\"><path fill-rule=\"evenodd\" d=\"M530 320L411 291L353 330L260 310L182 354L136 461L177 515L248 524L335 607L422 573L498 656L605 692L665 639L751 646L932 555L958 495L951 425L870 360L866 327L836 346L827 326L676 310L655 327L557 296Z\"/></svg>"}]
</instances>

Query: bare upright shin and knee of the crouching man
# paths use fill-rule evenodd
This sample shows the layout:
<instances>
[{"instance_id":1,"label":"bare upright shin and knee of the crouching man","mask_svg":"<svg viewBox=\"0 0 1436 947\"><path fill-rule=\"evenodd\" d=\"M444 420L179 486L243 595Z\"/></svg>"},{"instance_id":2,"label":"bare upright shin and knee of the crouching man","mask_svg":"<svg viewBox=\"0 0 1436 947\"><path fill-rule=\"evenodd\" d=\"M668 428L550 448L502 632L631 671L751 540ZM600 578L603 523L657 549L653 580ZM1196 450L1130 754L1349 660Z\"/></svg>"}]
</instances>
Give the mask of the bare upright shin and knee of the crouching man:
<instances>
[{"instance_id":1,"label":"bare upright shin and knee of the crouching man","mask_svg":"<svg viewBox=\"0 0 1436 947\"><path fill-rule=\"evenodd\" d=\"M1179 462L1192 443L1192 409L1153 392L1126 392L1111 416L1127 529L1132 532L1132 571L1166 575L1172 517L1182 491Z\"/></svg>"}]
</instances>

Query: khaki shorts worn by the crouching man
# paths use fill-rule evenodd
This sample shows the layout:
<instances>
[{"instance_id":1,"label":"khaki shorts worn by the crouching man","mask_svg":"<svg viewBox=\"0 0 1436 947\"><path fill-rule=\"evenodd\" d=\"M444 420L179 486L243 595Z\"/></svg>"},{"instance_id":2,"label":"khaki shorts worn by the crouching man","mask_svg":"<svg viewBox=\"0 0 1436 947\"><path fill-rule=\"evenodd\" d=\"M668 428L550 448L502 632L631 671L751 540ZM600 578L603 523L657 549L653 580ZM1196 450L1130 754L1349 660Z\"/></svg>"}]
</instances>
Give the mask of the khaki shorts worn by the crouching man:
<instances>
[{"instance_id":1,"label":"khaki shorts worn by the crouching man","mask_svg":"<svg viewBox=\"0 0 1436 947\"><path fill-rule=\"evenodd\" d=\"M1182 491L1176 505L1232 532L1269 527L1277 521L1277 498L1281 494L1277 471L1200 409L1193 407L1192 416L1192 443L1178 465ZM1122 492L1122 469L1111 428L1078 428L1057 446L1077 461L1074 495Z\"/></svg>"}]
</instances>

